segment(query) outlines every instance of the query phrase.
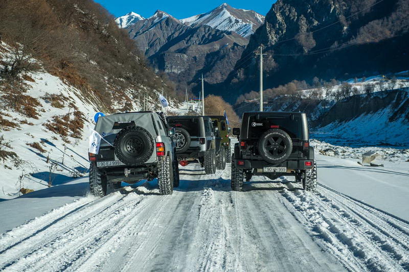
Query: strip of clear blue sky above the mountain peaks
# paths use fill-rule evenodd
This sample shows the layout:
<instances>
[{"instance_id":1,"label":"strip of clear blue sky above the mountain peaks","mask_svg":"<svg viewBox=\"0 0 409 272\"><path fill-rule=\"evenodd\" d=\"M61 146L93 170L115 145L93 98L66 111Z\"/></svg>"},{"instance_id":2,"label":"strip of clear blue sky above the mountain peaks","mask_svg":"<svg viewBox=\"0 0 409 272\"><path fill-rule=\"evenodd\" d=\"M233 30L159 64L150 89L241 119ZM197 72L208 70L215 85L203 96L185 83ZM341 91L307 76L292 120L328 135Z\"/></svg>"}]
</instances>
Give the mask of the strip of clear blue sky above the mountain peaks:
<instances>
[{"instance_id":1,"label":"strip of clear blue sky above the mountain peaks","mask_svg":"<svg viewBox=\"0 0 409 272\"><path fill-rule=\"evenodd\" d=\"M224 2L223 2L224 1ZM145 18L150 17L156 10L165 11L177 19L190 17L196 14L208 12L222 3L238 9L251 9L262 15L270 10L271 5L277 0L248 1L248 0L206 0L206 1L135 1L135 0L95 0L104 6L115 17L122 16L130 11L141 14Z\"/></svg>"}]
</instances>

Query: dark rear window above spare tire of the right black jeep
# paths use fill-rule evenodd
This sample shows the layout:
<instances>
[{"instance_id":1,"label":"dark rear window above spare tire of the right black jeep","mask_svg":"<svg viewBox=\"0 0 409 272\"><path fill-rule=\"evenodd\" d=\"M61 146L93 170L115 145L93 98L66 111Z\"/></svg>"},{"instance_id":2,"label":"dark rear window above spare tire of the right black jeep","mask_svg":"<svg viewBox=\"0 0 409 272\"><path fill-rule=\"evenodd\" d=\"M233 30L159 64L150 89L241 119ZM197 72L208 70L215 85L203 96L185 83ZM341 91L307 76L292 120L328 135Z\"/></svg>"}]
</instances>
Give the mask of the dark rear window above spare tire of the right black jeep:
<instances>
[{"instance_id":1,"label":"dark rear window above spare tire of the right black jeep","mask_svg":"<svg viewBox=\"0 0 409 272\"><path fill-rule=\"evenodd\" d=\"M256 119L256 116L250 116L248 122L248 137L259 138L264 131L278 126L279 129L287 132L291 138L302 139L301 125L300 115L294 115L293 120L290 115L277 117L260 116L259 120Z\"/></svg>"}]
</instances>

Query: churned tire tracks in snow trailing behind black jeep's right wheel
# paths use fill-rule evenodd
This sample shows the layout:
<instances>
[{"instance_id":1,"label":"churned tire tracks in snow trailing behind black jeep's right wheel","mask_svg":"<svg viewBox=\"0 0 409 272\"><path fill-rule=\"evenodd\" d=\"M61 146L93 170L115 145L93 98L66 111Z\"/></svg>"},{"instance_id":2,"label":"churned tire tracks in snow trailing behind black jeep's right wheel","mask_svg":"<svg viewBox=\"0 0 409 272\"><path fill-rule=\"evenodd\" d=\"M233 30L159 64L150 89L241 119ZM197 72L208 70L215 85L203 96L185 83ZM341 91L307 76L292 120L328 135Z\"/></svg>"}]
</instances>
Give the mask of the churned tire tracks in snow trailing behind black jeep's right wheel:
<instances>
[{"instance_id":1,"label":"churned tire tracks in snow trailing behind black jeep's right wheel","mask_svg":"<svg viewBox=\"0 0 409 272\"><path fill-rule=\"evenodd\" d=\"M388 232L369 228L367 223L372 216L359 216L363 209L354 201L345 198L335 204L334 194L325 188L320 187L317 193L304 193L294 190L291 183L286 185L281 194L288 202L283 204L312 235L319 237L317 243L331 251L349 270L407 270L405 249L391 243L393 237ZM371 222L372 226L382 225L381 220Z\"/></svg>"}]
</instances>

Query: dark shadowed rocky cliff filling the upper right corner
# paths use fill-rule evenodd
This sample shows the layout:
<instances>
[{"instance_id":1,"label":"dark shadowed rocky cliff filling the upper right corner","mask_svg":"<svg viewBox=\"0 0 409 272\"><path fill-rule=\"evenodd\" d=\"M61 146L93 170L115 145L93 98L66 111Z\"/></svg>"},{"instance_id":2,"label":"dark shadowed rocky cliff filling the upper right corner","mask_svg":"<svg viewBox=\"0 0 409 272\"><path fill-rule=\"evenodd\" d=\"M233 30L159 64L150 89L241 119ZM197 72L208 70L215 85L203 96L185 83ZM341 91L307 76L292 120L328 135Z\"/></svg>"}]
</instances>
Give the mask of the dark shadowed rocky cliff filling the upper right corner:
<instances>
[{"instance_id":1,"label":"dark shadowed rocky cliff filling the upper right corner","mask_svg":"<svg viewBox=\"0 0 409 272\"><path fill-rule=\"evenodd\" d=\"M258 89L260 45L264 88L293 79L343 79L407 69L408 0L278 0L222 85L234 102Z\"/></svg>"}]
</instances>

